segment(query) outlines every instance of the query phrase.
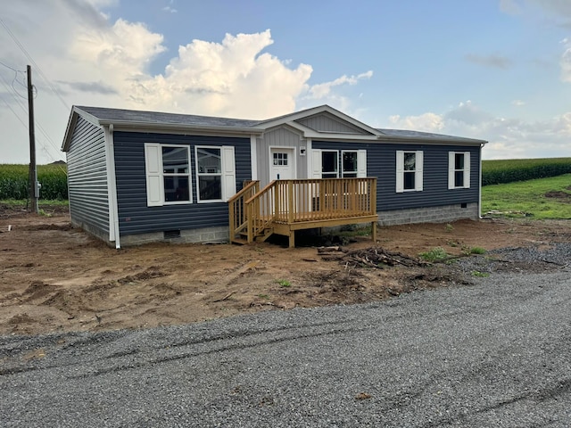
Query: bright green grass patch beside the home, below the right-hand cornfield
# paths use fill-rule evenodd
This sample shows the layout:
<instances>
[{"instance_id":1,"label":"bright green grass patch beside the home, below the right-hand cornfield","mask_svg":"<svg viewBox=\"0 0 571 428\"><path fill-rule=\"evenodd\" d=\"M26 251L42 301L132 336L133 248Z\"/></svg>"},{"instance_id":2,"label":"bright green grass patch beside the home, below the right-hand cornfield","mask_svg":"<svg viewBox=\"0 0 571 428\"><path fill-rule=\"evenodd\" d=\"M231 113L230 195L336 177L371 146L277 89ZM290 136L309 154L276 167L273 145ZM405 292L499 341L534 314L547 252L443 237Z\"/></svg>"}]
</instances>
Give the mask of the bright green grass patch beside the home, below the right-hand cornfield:
<instances>
[{"instance_id":1,"label":"bright green grass patch beside the home, below the right-hand cornfield","mask_svg":"<svg viewBox=\"0 0 571 428\"><path fill-rule=\"evenodd\" d=\"M560 192L562 197L546 196L550 192ZM506 217L571 218L571 174L486 185L482 187L482 213L492 210L507 213Z\"/></svg>"}]
</instances>

